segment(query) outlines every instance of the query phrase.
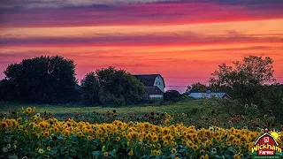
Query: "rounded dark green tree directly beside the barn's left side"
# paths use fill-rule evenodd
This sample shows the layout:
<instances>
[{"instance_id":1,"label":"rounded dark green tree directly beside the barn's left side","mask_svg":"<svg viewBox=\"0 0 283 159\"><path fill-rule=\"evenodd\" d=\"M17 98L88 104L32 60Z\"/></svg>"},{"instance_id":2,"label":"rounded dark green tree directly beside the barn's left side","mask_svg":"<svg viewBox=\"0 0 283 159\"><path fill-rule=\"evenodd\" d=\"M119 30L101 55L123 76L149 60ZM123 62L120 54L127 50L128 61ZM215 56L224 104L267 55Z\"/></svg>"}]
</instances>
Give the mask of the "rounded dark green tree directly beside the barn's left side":
<instances>
[{"instance_id":1,"label":"rounded dark green tree directly beside the barn's left side","mask_svg":"<svg viewBox=\"0 0 283 159\"><path fill-rule=\"evenodd\" d=\"M85 103L121 106L142 100L142 82L124 70L114 67L89 72L81 80L81 94Z\"/></svg>"}]
</instances>

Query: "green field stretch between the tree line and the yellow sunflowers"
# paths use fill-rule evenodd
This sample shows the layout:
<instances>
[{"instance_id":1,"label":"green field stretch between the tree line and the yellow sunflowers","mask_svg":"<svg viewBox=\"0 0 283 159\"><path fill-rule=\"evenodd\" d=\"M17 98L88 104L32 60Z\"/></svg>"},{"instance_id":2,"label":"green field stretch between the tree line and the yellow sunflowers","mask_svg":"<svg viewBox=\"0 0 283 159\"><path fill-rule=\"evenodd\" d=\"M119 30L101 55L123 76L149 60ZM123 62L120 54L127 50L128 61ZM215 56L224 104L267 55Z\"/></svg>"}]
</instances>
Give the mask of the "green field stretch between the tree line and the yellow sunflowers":
<instances>
[{"instance_id":1,"label":"green field stretch between the tree line and the yellow sunflowers","mask_svg":"<svg viewBox=\"0 0 283 159\"><path fill-rule=\"evenodd\" d=\"M56 117L58 120L72 118L74 120L92 120L94 123L111 123L115 119L129 121L145 121L160 124L162 115L172 117L171 124L183 123L196 127L234 126L242 128L248 126L256 130L262 127L281 129L282 123L272 116L264 115L253 107L243 110L245 115L234 114L234 108L220 107L216 101L185 100L167 105L132 105L125 107L83 107L79 104L47 105L47 104L17 104L11 102L1 103L0 115L3 117L13 116L22 112L22 108L36 108L46 118ZM115 113L113 113L113 111ZM153 114L153 117L149 117Z\"/></svg>"}]
</instances>

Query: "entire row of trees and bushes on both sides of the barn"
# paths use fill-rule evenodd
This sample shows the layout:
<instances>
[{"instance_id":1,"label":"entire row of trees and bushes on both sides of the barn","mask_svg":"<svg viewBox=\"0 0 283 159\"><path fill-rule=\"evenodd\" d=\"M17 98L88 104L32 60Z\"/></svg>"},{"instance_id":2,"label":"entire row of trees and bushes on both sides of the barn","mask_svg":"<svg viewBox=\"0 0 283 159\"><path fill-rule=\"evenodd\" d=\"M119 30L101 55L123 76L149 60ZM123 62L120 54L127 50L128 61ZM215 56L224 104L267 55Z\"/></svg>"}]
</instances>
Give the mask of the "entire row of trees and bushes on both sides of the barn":
<instances>
[{"instance_id":1,"label":"entire row of trees and bushes on both sides of the barn","mask_svg":"<svg viewBox=\"0 0 283 159\"><path fill-rule=\"evenodd\" d=\"M233 66L221 64L211 73L210 86L195 83L191 92L224 92L241 105L257 104L264 110L283 112L283 85L273 78L271 57L244 57ZM34 57L9 64L0 80L0 100L10 102L126 105L142 102L145 87L130 72L114 67L88 72L78 85L72 59ZM170 90L164 101L178 102L181 95ZM283 115L282 115L283 117Z\"/></svg>"}]
</instances>

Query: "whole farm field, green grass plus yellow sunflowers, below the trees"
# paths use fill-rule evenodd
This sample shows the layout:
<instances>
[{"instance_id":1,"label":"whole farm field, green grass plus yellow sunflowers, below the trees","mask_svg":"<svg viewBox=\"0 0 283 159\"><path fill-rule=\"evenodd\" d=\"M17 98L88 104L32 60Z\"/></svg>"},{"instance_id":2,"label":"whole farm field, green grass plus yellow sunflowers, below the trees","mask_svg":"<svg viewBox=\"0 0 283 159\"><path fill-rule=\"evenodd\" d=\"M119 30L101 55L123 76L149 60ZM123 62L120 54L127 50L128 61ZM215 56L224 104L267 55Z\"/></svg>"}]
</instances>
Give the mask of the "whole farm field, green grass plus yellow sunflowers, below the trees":
<instances>
[{"instance_id":1,"label":"whole farm field, green grass plus yellow sunflowers, below the trees","mask_svg":"<svg viewBox=\"0 0 283 159\"><path fill-rule=\"evenodd\" d=\"M225 112L205 100L121 108L6 102L0 110L1 156L250 158L268 121ZM283 148L282 125L274 124L271 133Z\"/></svg>"}]
</instances>

